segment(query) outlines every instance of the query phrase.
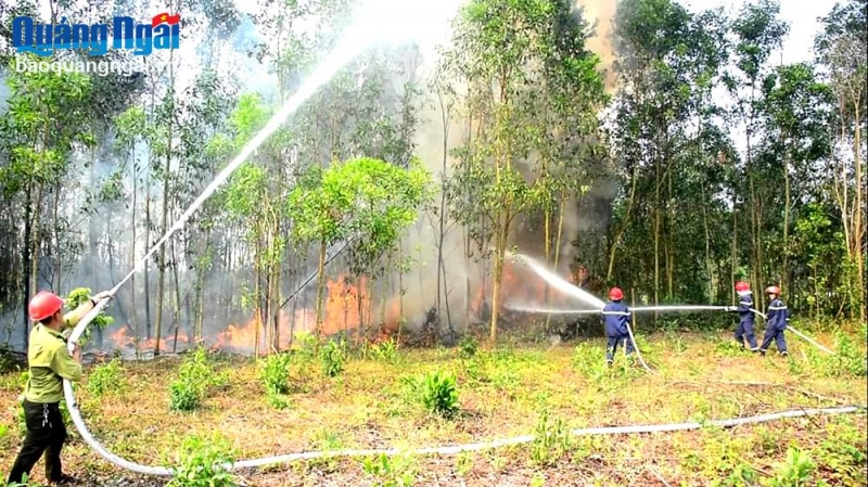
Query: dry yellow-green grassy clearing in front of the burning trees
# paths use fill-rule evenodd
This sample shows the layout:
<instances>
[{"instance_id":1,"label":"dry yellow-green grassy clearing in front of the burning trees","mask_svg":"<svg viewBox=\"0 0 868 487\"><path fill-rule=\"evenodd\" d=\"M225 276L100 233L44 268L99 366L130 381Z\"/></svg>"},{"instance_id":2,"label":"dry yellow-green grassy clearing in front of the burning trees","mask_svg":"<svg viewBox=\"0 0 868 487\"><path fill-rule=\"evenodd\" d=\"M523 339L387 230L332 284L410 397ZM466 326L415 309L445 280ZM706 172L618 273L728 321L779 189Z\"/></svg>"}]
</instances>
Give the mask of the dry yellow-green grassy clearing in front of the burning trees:
<instances>
[{"instance_id":1,"label":"dry yellow-green grassy clearing in front of the burning trees","mask_svg":"<svg viewBox=\"0 0 868 487\"><path fill-rule=\"evenodd\" d=\"M602 339L494 350L465 341L454 349L330 347L319 356L303 349L267 364L200 354L183 359L183 373L177 358L113 362L88 371L77 394L89 427L111 451L187 473L197 470L196 462L215 459L537 435L531 444L472 453L315 459L239 473L246 485L264 487L866 485L864 412L732 430L567 434L578 427L703 422L868 402L864 336L838 336L850 351L835 360L792 334L789 358L751 355L732 347L728 336L640 336L653 374L623 356L605 368ZM840 345L831 335L818 337ZM183 384L191 387L184 394L199 398L192 411L169 405L169 389ZM5 473L23 437L20 373L0 376L0 472ZM120 479L165 485L115 469L72 424L69 433L64 464L82 485ZM42 482L42 469L37 464L35 480ZM191 479L194 474L188 477L174 485L208 485Z\"/></svg>"}]
</instances>

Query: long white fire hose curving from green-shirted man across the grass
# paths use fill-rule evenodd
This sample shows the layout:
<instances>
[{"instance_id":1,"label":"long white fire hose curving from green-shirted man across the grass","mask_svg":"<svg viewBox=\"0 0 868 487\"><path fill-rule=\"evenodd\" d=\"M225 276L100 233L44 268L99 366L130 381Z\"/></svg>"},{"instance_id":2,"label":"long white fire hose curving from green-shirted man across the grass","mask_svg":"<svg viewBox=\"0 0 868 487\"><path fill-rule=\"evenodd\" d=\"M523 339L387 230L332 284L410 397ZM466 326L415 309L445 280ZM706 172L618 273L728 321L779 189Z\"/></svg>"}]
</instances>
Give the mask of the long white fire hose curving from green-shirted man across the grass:
<instances>
[{"instance_id":1,"label":"long white fire hose curving from green-shirted man across the grass","mask_svg":"<svg viewBox=\"0 0 868 487\"><path fill-rule=\"evenodd\" d=\"M69 341L67 345L69 353L73 353L75 350L75 345L78 338L85 332L90 322L97 317L97 315L99 315L99 312L107 304L108 299L101 300L100 303L97 304L97 306L92 310L90 310L90 312L88 312L78 322L78 324L76 324L75 329L73 330L73 333L69 335ZM78 403L75 400L75 395L73 393L73 385L66 379L63 380L63 393L66 398L66 407L69 410L69 415L73 418L73 423L75 423L78 433L81 435L81 438L85 439L85 443L87 443L91 448L93 448L93 450L97 451L102 458L104 458L110 463L116 466L143 475L154 475L164 477L174 475L174 471L171 469L165 466L150 466L150 465L143 465L141 463L131 462L108 451L105 447L102 446L102 444L100 444L97 440L97 438L93 437L93 435L90 433L87 425L85 424L85 420L81 418L81 411L78 409ZM706 424L714 425L717 427L733 427L744 424L765 423L786 418L801 418L801 416L817 415L817 414L844 414L844 413L857 412L860 410L864 411L866 410L866 408L857 406L847 406L847 407L824 408L824 409L799 409L799 410L782 411L769 414L760 414L749 418L716 420L716 421L710 421ZM691 423L674 423L674 424L648 424L648 425L634 425L634 426L590 427L590 428L572 430L570 433L577 436L616 435L616 434L636 434L636 433L666 433L666 432L699 430L702 426L703 425L700 423L691 422ZM480 451L480 450L503 447L508 445L526 444L533 441L534 438L535 437L533 435L525 435L512 438L497 439L486 443L454 445L445 447L427 447L427 448L417 448L410 450L400 450L392 448L392 449L369 449L369 450L305 451L298 453L281 454L276 457L242 460L234 463L224 464L221 465L221 467L227 471L235 471L241 469L261 467L279 463L289 463L298 460L309 460L309 459L327 458L327 457L367 457L372 454L395 456L401 453L456 454L465 451Z\"/></svg>"}]
</instances>

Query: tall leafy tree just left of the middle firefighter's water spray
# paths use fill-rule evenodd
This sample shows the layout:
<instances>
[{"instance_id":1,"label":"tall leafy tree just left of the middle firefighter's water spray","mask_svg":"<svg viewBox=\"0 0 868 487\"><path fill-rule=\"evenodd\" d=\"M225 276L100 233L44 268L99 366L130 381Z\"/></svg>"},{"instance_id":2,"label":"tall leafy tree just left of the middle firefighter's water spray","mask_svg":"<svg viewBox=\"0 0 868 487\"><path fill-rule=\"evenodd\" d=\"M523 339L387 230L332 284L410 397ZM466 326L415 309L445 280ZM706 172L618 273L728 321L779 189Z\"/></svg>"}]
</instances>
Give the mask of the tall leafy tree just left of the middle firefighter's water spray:
<instances>
[{"instance_id":1,"label":"tall leafy tree just left of the middle firefighter's water spray","mask_svg":"<svg viewBox=\"0 0 868 487\"><path fill-rule=\"evenodd\" d=\"M522 174L521 162L539 146L524 93L546 48L551 10L549 2L474 0L455 21L452 49L445 61L454 82L467 85L463 107L470 127L470 137L456 151L459 164L450 178L450 206L477 251L494 260L492 342L497 338L510 230L537 200Z\"/></svg>"}]
</instances>

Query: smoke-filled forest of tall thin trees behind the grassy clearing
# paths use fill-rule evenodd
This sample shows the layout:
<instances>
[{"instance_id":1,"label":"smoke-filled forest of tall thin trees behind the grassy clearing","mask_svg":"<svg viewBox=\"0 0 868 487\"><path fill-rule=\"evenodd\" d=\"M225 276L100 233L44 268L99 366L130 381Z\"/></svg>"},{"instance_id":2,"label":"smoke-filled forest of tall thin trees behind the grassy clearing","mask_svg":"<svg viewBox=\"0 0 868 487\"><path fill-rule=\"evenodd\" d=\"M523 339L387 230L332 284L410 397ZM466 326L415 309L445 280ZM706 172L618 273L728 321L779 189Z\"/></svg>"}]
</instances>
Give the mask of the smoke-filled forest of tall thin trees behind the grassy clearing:
<instances>
[{"instance_id":1,"label":"smoke-filled forest of tall thin trees behind the grassy clearing","mask_svg":"<svg viewBox=\"0 0 868 487\"><path fill-rule=\"evenodd\" d=\"M154 13L52 5L43 22ZM796 34L770 0L731 14L621 0L589 9L611 16L597 35L566 0L470 0L436 57L379 47L318 90L120 289L98 339L280 348L298 330L446 339L482 323L495 337L521 325L510 303L564 302L513 246L564 278L586 266L600 297L732 304L746 280L757 308L777 284L797 316L864 322L866 9L839 2L810 33L815 61L782 65ZM178 52L108 76L16 72L12 18L38 11L0 5L0 343L16 349L29 297L114 286L304 82L349 9L184 2ZM311 189L353 159L400 170L360 164L342 172L355 192ZM309 230L334 225L357 233Z\"/></svg>"}]
</instances>

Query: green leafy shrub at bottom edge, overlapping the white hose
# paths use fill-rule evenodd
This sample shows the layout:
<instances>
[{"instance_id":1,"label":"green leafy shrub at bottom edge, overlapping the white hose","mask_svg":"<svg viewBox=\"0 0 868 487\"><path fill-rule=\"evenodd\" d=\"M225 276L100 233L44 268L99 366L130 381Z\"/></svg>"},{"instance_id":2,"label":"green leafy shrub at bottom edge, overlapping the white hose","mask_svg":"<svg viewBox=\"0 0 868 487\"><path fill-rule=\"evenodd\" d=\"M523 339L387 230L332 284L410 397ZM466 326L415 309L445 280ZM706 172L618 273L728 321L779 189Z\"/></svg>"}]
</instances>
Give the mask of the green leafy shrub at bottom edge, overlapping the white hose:
<instances>
[{"instance_id":1,"label":"green leafy shrub at bottom edge, overlapping the white hose","mask_svg":"<svg viewBox=\"0 0 868 487\"><path fill-rule=\"evenodd\" d=\"M222 437L184 438L176 456L175 475L167 487L234 487L235 476L222 466L234 462L230 444Z\"/></svg>"}]
</instances>

